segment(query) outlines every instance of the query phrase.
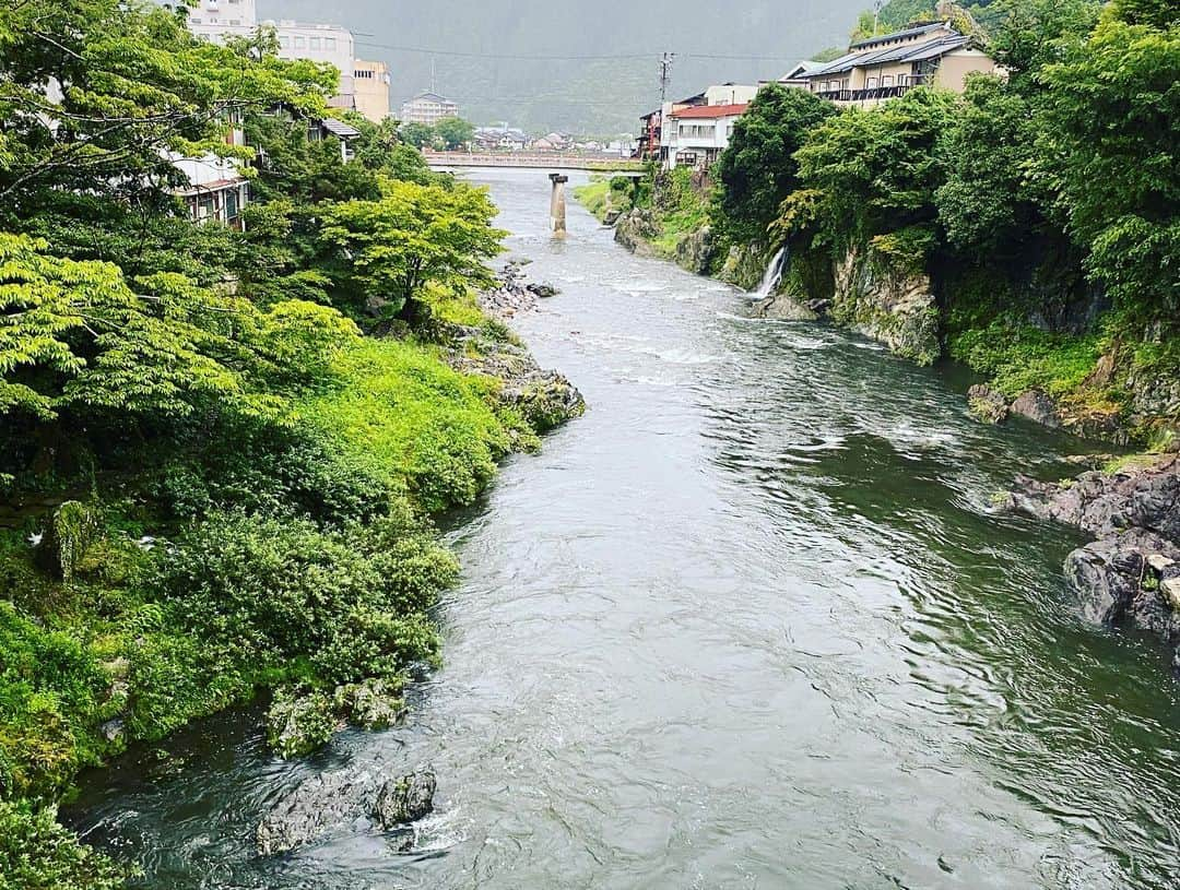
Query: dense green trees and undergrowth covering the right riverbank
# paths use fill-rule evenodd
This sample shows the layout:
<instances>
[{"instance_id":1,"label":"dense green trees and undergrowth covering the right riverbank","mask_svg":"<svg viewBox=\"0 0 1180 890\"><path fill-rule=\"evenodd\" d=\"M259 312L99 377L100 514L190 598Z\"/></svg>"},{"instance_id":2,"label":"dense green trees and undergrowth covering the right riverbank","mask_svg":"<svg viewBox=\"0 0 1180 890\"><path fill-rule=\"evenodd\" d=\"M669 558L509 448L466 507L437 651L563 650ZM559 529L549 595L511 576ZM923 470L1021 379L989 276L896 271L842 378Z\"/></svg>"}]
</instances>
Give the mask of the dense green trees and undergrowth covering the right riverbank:
<instances>
[{"instance_id":1,"label":"dense green trees and undergrowth covering the right riverbank","mask_svg":"<svg viewBox=\"0 0 1180 890\"><path fill-rule=\"evenodd\" d=\"M893 0L876 32L933 12ZM760 95L756 126L715 167L715 228L753 243L771 226L801 297L830 299L853 256L929 275L946 352L1005 395L1038 389L1067 417L1145 439L1174 426L1153 390L1180 371L1180 9L996 0L952 13L1004 77L974 75L962 97L914 88L802 133L761 113ZM861 25L872 33L873 17ZM752 152L763 130L759 145L778 134L798 150ZM749 184L766 187L772 163L788 185L768 209Z\"/></svg>"}]
</instances>

